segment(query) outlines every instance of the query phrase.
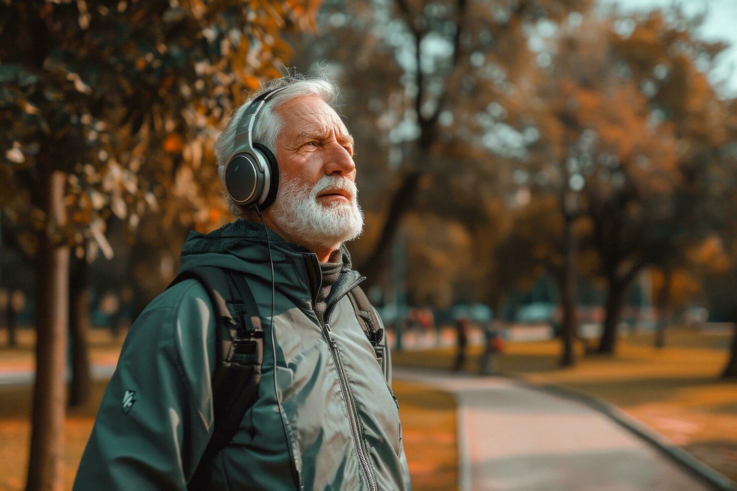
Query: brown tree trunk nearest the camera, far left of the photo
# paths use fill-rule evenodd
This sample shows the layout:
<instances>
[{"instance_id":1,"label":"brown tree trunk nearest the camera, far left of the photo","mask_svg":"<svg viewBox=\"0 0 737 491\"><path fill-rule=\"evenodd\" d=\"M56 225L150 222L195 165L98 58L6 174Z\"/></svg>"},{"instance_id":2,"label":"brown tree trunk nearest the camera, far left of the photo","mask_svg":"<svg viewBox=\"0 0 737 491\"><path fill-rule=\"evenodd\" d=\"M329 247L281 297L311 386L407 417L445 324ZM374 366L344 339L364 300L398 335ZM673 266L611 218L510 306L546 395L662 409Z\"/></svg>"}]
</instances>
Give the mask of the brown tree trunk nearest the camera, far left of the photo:
<instances>
[{"instance_id":1,"label":"brown tree trunk nearest the camera, far left of the photo","mask_svg":"<svg viewBox=\"0 0 737 491\"><path fill-rule=\"evenodd\" d=\"M41 232L36 265L36 379L33 390L27 490L62 490L64 368L69 319L69 248L54 230L64 224L65 175L41 169L43 209L48 226Z\"/></svg>"}]
</instances>

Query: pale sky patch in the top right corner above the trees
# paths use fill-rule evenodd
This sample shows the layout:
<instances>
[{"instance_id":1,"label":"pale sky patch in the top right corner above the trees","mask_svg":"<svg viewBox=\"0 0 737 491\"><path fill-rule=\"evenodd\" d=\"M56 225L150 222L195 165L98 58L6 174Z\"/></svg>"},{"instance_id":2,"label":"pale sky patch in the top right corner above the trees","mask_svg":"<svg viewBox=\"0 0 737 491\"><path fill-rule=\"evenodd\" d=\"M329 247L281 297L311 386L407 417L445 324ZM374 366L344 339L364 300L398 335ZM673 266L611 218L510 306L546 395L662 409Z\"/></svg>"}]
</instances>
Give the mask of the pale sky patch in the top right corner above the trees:
<instances>
[{"instance_id":1,"label":"pale sky patch in the top right corner above the trees","mask_svg":"<svg viewBox=\"0 0 737 491\"><path fill-rule=\"evenodd\" d=\"M729 43L716 60L716 68L711 74L715 83L722 82L723 96L737 96L737 0L598 0L601 6L614 5L626 13L652 10L680 4L685 12L706 11L704 24L697 34L705 40L721 40Z\"/></svg>"}]
</instances>

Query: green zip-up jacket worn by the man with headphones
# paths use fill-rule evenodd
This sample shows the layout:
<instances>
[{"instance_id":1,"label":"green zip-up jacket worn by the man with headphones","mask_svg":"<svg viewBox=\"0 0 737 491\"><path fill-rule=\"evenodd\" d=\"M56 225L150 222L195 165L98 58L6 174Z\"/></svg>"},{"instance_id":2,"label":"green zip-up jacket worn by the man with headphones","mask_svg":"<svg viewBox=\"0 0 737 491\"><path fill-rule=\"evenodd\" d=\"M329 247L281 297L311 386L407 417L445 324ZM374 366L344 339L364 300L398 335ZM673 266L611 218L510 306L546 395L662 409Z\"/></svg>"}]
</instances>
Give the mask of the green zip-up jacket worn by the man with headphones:
<instances>
[{"instance_id":1,"label":"green zip-up jacket worn by the man with headphones","mask_svg":"<svg viewBox=\"0 0 737 491\"><path fill-rule=\"evenodd\" d=\"M261 225L237 220L207 235L192 232L181 254L180 271L222 266L243 272L265 319L259 398L212 459L209 489L409 489L388 347L381 367L345 296L361 280L347 251L325 312L336 364L326 326L313 311L321 282L317 256L271 231L269 237L273 333ZM147 305L125 339L75 490L186 489L212 434L215 328L209 297L195 280Z\"/></svg>"}]
</instances>

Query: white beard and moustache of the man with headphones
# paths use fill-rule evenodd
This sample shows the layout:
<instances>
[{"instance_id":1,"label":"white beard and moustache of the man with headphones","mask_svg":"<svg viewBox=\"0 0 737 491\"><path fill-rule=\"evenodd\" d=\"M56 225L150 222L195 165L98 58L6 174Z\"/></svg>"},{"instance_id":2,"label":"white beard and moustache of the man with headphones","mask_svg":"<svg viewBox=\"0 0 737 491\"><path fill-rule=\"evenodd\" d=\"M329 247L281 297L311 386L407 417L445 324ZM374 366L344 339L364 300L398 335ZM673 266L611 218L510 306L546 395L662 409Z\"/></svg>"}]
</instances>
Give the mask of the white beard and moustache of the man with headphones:
<instances>
[{"instance_id":1,"label":"white beard and moustache of the man with headphones","mask_svg":"<svg viewBox=\"0 0 737 491\"><path fill-rule=\"evenodd\" d=\"M322 205L318 194L328 188L348 191L350 202L341 199ZM356 239L363 230L357 194L355 183L347 177L323 176L312 188L296 180L282 181L271 216L279 228L302 239L300 242L332 247Z\"/></svg>"}]
</instances>

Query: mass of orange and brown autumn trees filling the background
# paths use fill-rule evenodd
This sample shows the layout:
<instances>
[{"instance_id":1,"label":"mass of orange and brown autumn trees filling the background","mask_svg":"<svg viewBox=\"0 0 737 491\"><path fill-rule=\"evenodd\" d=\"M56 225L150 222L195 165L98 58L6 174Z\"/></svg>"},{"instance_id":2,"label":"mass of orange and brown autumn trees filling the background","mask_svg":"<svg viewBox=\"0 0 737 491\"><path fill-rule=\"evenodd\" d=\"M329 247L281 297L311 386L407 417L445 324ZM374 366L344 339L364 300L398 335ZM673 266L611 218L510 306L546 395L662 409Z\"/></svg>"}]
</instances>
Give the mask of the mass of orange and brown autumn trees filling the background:
<instances>
[{"instance_id":1,"label":"mass of orange and brown autumn trees filling the background","mask_svg":"<svg viewBox=\"0 0 737 491\"><path fill-rule=\"evenodd\" d=\"M5 264L15 278L34 270L53 340L29 489L60 486L87 287L130 286L139 310L186 230L232 219L214 138L286 63L340 83L366 211L350 247L386 303L514 320L544 288L565 366L584 303L604 310L587 349L616 353L640 278L661 320L698 304L736 322L737 101L710 79L724 44L697 27L590 0L1 2L1 245L25 261Z\"/></svg>"}]
</instances>

